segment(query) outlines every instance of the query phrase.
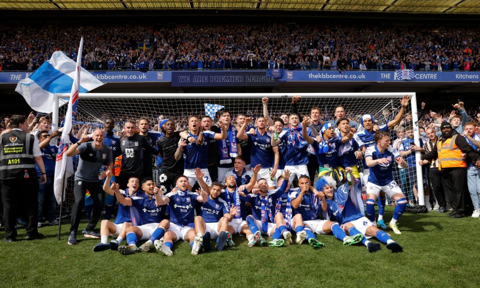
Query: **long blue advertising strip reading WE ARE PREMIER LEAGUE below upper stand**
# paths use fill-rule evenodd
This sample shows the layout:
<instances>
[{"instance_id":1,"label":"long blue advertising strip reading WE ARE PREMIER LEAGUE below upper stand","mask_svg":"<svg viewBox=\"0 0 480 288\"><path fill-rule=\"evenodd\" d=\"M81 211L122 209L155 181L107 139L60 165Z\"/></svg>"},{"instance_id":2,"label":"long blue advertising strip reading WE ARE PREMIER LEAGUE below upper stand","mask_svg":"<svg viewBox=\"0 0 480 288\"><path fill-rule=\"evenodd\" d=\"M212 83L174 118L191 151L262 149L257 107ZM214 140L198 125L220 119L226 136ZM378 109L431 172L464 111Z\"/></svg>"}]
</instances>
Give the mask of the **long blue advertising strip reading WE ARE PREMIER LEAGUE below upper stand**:
<instances>
[{"instance_id":1,"label":"long blue advertising strip reading WE ARE PREMIER LEAGUE below upper stand","mask_svg":"<svg viewBox=\"0 0 480 288\"><path fill-rule=\"evenodd\" d=\"M284 71L279 79L265 71L187 70L187 71L93 71L98 80L108 82L171 82L172 86L276 86L283 81L300 82L477 82L480 71L414 71L409 80L400 79L395 71L293 70ZM0 83L18 83L31 72L0 72Z\"/></svg>"}]
</instances>

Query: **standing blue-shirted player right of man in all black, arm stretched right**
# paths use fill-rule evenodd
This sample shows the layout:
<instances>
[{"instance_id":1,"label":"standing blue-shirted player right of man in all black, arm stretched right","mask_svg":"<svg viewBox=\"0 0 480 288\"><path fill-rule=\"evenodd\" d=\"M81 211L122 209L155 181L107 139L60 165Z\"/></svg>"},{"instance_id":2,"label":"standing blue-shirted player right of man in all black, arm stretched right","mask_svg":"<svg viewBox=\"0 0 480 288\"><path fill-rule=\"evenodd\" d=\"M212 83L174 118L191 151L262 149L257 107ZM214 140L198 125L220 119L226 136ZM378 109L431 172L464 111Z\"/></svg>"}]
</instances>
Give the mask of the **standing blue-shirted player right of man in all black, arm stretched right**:
<instances>
[{"instance_id":1,"label":"standing blue-shirted player right of man in all black, arm stretched right","mask_svg":"<svg viewBox=\"0 0 480 288\"><path fill-rule=\"evenodd\" d=\"M179 160L184 157L183 174L187 176L190 186L196 182L195 168L200 168L204 173L204 181L210 185L211 178L208 173L207 150L210 139L222 140L227 136L226 130L228 126L222 125L221 133L214 133L212 131L200 131L200 122L196 116L188 118L188 131L180 132L182 140L178 142L178 148L175 151L175 159ZM203 141L198 143L198 135L202 133Z\"/></svg>"}]
</instances>

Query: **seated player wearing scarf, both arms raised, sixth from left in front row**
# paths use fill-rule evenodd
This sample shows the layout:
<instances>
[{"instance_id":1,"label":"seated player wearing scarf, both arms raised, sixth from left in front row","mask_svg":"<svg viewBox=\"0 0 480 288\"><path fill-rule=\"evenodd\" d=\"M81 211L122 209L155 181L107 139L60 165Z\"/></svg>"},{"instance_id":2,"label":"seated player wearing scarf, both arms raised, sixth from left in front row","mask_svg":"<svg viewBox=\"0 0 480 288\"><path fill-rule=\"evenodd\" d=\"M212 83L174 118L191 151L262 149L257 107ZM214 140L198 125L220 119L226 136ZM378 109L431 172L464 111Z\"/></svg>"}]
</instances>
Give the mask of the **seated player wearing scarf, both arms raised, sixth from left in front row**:
<instances>
[{"instance_id":1,"label":"seated player wearing scarf, both arms raised, sixth from left in front row","mask_svg":"<svg viewBox=\"0 0 480 288\"><path fill-rule=\"evenodd\" d=\"M255 166L255 167L258 167ZM290 175L290 171L285 169L283 177L286 179ZM251 215L246 216L248 228L253 234L262 233L272 236L273 240L268 244L270 246L280 247L287 243L291 243L291 233L288 231L283 214L277 212L275 214L276 200L287 191L287 181L283 181L282 185L274 192L268 191L268 183L265 178L257 181L258 193L246 194L239 191L240 199L250 202ZM281 239L283 236L285 239ZM265 240L260 236L257 243L262 246Z\"/></svg>"}]
</instances>

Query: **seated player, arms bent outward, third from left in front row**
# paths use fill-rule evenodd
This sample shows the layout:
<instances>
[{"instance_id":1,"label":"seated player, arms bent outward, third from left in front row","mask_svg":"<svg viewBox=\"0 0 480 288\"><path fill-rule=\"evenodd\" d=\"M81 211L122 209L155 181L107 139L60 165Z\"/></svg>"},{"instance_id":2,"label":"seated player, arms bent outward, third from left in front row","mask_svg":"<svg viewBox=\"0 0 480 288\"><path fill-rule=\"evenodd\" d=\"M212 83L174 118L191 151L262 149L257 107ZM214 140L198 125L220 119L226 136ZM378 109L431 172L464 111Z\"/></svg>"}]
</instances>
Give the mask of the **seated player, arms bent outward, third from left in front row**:
<instances>
[{"instance_id":1,"label":"seated player, arms bent outward, third from left in front row","mask_svg":"<svg viewBox=\"0 0 480 288\"><path fill-rule=\"evenodd\" d=\"M203 171L202 171L203 172ZM176 179L176 191L171 191L161 197L160 203L168 204L170 214L170 228L163 236L163 242L155 240L154 245L157 250L170 256L173 254L171 248L173 242L179 239L188 241L191 247L191 254L196 255L201 248L202 237L195 235L194 213L195 207L201 202L208 200L208 194L204 190L197 190L197 193L188 190L188 177L180 175ZM158 187L154 192L161 194Z\"/></svg>"}]
</instances>

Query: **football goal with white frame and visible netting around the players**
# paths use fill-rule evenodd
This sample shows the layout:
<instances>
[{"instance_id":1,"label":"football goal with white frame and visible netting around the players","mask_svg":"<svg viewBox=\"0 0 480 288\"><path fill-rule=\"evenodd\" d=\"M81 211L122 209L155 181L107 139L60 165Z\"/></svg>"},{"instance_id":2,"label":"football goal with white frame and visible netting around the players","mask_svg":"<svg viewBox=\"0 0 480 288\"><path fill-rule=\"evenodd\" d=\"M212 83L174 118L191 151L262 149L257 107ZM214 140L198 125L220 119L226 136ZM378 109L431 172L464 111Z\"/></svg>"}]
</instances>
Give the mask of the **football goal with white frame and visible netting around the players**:
<instances>
[{"instance_id":1,"label":"football goal with white frame and visible netting around the players","mask_svg":"<svg viewBox=\"0 0 480 288\"><path fill-rule=\"evenodd\" d=\"M177 127L186 127L188 116L201 116L205 114L204 103L219 104L230 112L232 121L238 113L245 113L247 117L262 115L262 97L268 97L268 111L271 118L280 116L282 113L289 113L291 109L291 98L293 95L300 95L298 112L302 115L309 115L310 108L317 106L321 109L322 120L329 120L333 117L333 111L337 105L345 108L346 117L360 122L361 115L371 114L378 124L381 120L382 110L388 108L395 115L400 108L400 99L403 95L411 97L405 112L411 112L414 131L414 142L419 145L419 131L417 126L417 106L414 92L392 92L392 93L80 93L77 118L74 126L77 129L81 124L89 123L90 128L103 127L102 121L111 117L115 121L115 130L120 131L126 119L138 119L146 116L150 119L151 128L158 122L158 117L172 119ZM60 102L63 99L68 102L69 94L57 94ZM52 115L52 129L58 127L58 120L64 119L67 105L58 107L55 101ZM216 122L216 120L214 120ZM396 136L390 133L391 136ZM392 139L393 142L393 139ZM400 178L397 164L395 163L395 181L402 188L408 200L413 200L413 187L416 183L423 183L422 169L418 165L420 152L415 152L416 178ZM154 164L153 164L154 165ZM363 169L361 161L358 162L360 171ZM154 167L156 174L157 168ZM155 177L155 174L153 177ZM73 204L72 195L73 181L70 179L67 185L64 207L69 212ZM416 185L418 192L418 203L424 204L423 185Z\"/></svg>"}]
</instances>

